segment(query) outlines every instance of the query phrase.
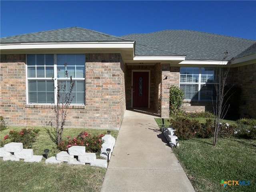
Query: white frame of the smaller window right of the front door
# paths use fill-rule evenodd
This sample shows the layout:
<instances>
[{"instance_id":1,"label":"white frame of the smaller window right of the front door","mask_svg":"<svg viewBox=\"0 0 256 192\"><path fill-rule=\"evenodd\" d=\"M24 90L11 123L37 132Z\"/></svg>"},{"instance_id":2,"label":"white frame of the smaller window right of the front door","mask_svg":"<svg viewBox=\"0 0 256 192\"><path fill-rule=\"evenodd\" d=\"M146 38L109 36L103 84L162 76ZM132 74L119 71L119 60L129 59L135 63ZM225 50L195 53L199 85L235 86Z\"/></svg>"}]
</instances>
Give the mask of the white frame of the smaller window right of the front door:
<instances>
[{"instance_id":1,"label":"white frame of the smaller window right of the front door","mask_svg":"<svg viewBox=\"0 0 256 192\"><path fill-rule=\"evenodd\" d=\"M197 85L198 86L198 89L197 89L197 92L194 96L192 96L191 99L184 99L184 101L212 101L212 98L211 99L204 99L202 100L201 99L201 88L202 86L204 85L213 85L214 86L214 90L215 90L215 85L219 85L219 82L216 82L217 77L218 77L218 68L217 67L180 67L180 72L181 72L181 68L198 68L198 74L191 74L192 76L195 76L195 75L198 75L198 82L181 82L181 76L182 74L180 73L180 79L179 79L179 87L180 85ZM213 81L212 82L208 82L208 78L206 78L206 82L201 82L202 80L202 75L204 76L205 74L202 74L202 68L213 68L214 69L214 74L213 74ZM206 77L208 77L208 74L206 74ZM183 90L182 90L183 91ZM185 92L184 92L185 94ZM198 98L197 99L193 99L196 95L198 95ZM211 97L213 97L214 95L212 95ZM216 100L216 99L213 99L213 100Z\"/></svg>"}]
</instances>

